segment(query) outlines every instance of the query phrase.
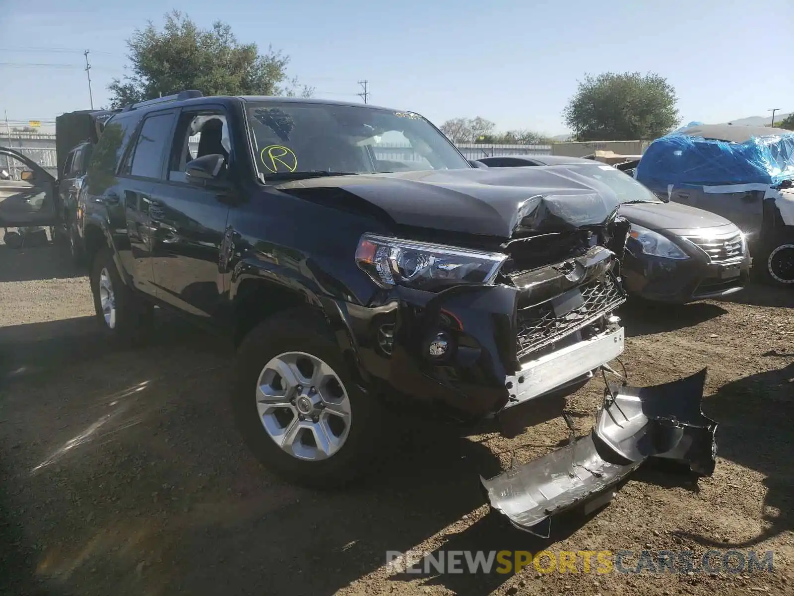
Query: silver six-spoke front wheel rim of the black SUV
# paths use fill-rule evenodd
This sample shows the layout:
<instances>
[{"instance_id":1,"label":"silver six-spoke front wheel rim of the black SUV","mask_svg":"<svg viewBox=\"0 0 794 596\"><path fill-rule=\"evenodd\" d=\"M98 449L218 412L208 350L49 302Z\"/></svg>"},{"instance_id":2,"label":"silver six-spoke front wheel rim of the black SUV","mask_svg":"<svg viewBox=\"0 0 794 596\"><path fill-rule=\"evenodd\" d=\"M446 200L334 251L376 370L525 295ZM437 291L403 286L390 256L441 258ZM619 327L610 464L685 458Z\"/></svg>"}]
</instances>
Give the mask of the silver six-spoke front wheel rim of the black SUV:
<instances>
[{"instance_id":1,"label":"silver six-spoke front wheel rim of the black SUV","mask_svg":"<svg viewBox=\"0 0 794 596\"><path fill-rule=\"evenodd\" d=\"M256 409L264 431L297 459L328 459L348 437L350 400L339 375L320 358L285 352L256 381Z\"/></svg>"}]
</instances>

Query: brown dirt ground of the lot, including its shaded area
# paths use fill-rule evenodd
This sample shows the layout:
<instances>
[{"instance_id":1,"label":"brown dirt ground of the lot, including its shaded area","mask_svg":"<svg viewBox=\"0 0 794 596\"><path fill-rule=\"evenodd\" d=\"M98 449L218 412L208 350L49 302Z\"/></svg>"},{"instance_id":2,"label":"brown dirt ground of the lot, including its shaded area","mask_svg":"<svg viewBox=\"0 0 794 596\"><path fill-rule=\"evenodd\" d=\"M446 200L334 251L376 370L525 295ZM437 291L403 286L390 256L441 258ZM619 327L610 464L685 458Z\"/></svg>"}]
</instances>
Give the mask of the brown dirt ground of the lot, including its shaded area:
<instances>
[{"instance_id":1,"label":"brown dirt ground of the lot, including its shaded area","mask_svg":"<svg viewBox=\"0 0 794 596\"><path fill-rule=\"evenodd\" d=\"M295 488L233 428L227 346L160 315L145 349L110 350L70 272L60 250L0 246L2 594L794 594L794 292L622 308L633 385L708 366L715 474L638 470L541 540L489 513L478 474L557 446L561 420L514 439L417 426L355 489ZM602 392L596 379L572 398L580 434ZM771 550L774 571L427 577L385 564L387 551L713 548Z\"/></svg>"}]
</instances>

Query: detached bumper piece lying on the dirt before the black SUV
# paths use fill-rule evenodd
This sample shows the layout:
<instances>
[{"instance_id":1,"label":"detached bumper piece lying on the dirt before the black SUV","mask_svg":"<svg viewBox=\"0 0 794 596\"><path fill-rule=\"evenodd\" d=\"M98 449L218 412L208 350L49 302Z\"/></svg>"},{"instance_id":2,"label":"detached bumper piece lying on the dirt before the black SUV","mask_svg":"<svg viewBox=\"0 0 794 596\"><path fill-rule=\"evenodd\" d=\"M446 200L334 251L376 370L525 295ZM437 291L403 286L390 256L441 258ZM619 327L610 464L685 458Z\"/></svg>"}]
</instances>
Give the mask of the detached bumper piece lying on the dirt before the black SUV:
<instances>
[{"instance_id":1,"label":"detached bumper piece lying on the dirt before the black SUV","mask_svg":"<svg viewBox=\"0 0 794 596\"><path fill-rule=\"evenodd\" d=\"M715 466L717 424L700 404L706 369L653 387L609 385L592 431L522 466L480 478L491 507L517 528L548 537L550 517L606 504L615 486L649 458L687 463L701 476Z\"/></svg>"}]
</instances>

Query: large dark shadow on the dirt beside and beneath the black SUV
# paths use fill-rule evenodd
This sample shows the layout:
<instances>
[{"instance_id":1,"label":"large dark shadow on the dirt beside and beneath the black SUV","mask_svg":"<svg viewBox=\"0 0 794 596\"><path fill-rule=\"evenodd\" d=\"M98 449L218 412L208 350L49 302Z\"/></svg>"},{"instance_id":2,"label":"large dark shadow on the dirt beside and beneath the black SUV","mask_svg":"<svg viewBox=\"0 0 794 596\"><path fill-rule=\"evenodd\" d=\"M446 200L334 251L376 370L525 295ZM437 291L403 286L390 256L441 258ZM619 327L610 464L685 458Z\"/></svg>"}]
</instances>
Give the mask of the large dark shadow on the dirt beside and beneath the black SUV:
<instances>
[{"instance_id":1,"label":"large dark shadow on the dirt beside and beneath the black SUV","mask_svg":"<svg viewBox=\"0 0 794 596\"><path fill-rule=\"evenodd\" d=\"M360 485L274 478L233 428L230 351L158 319L138 350L110 350L90 318L0 329L5 372L38 371L0 376L4 594L330 594L484 505L488 447L402 414ZM537 551L586 521L540 540L491 513L444 548ZM483 594L509 577L433 581Z\"/></svg>"}]
</instances>

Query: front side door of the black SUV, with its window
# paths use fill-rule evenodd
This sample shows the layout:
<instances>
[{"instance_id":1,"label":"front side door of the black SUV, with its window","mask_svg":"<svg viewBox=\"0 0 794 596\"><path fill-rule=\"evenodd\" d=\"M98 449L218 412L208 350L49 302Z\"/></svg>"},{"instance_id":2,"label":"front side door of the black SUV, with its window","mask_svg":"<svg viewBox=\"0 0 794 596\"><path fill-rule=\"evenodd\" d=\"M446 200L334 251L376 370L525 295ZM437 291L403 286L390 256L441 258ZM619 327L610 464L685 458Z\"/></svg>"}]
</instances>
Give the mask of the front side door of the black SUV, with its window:
<instances>
[{"instance_id":1,"label":"front side door of the black SUV, with its window","mask_svg":"<svg viewBox=\"0 0 794 596\"><path fill-rule=\"evenodd\" d=\"M220 314L224 276L218 262L229 206L218 190L187 184L185 166L213 153L229 158L222 107L182 110L168 172L152 189L152 265L157 296L198 319Z\"/></svg>"}]
</instances>

